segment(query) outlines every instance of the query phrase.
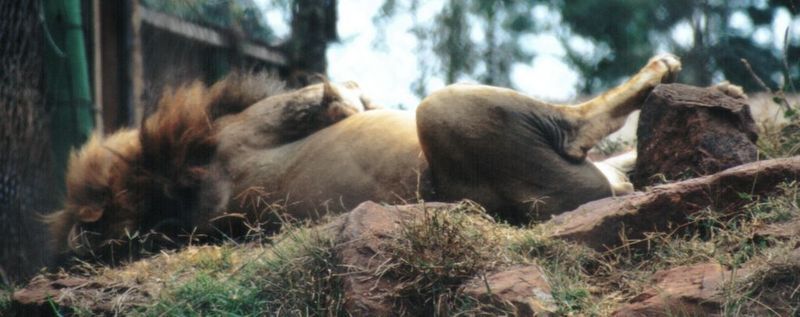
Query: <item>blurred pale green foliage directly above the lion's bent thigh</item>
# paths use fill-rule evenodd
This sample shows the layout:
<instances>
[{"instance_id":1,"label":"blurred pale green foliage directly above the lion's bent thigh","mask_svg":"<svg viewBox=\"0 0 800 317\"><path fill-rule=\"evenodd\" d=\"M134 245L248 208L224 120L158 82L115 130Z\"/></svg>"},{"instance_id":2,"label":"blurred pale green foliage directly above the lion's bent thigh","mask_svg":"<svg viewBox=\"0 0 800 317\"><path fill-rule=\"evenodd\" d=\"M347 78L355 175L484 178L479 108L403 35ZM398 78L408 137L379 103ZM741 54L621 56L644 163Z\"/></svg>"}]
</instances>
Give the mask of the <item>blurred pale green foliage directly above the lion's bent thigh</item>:
<instances>
[{"instance_id":1,"label":"blurred pale green foliage directly above the lion's bent thigh","mask_svg":"<svg viewBox=\"0 0 800 317\"><path fill-rule=\"evenodd\" d=\"M417 18L421 7L418 0L386 0L374 19L381 29L381 24L395 15L409 13L414 17L416 25L410 31L419 40L416 50L421 72L412 90L420 97L427 95L425 85L434 74L442 74L447 83L475 78L511 87L511 66L532 58L518 39L536 29L529 17L533 2L444 2L432 21ZM436 61L428 60L431 53Z\"/></svg>"}]
</instances>

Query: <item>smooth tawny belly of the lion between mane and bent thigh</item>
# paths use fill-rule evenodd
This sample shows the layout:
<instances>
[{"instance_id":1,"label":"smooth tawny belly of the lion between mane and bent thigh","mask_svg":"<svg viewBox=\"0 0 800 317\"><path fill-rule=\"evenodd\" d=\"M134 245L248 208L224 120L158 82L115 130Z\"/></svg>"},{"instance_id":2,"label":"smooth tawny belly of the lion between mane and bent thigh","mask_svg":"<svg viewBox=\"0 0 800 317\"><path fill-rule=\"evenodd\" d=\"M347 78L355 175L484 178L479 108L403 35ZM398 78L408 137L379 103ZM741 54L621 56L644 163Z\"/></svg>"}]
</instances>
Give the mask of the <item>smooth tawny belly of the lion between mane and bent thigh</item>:
<instances>
[{"instance_id":1,"label":"smooth tawny belly of the lion between mane and bent thigh","mask_svg":"<svg viewBox=\"0 0 800 317\"><path fill-rule=\"evenodd\" d=\"M247 181L298 218L342 212L367 200L415 202L430 191L428 165L413 112L375 110L311 136L254 153L240 168ZM247 166L257 167L247 171Z\"/></svg>"}]
</instances>

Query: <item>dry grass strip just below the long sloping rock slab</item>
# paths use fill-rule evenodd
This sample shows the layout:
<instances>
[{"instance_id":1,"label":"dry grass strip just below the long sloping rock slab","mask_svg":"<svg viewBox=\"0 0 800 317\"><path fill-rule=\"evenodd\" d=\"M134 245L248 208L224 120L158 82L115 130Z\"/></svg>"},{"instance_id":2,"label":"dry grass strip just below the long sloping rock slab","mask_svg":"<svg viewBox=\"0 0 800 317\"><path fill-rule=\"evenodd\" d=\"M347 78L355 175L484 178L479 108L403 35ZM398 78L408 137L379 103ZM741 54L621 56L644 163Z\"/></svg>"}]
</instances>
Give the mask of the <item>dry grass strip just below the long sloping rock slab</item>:
<instances>
[{"instance_id":1,"label":"dry grass strip just below the long sloping rock slab","mask_svg":"<svg viewBox=\"0 0 800 317\"><path fill-rule=\"evenodd\" d=\"M768 225L800 221L798 192L798 184L791 183L783 185L780 192L771 197L757 199L743 196L742 199L751 202L741 209L707 209L680 229L671 233L651 234L644 243L645 247L637 243L639 247L606 253L604 259L607 270L595 276L595 281L609 282L611 287L607 288L608 294L613 294L614 289L623 290L615 294L619 298L614 301L627 301L649 286L650 276L658 270L716 262L731 270L766 272L763 275L748 275L747 281L736 281L734 289L723 292L726 303L724 315L764 315L761 310L764 306L756 307L754 301L750 301L749 306L741 305L745 299L752 298L748 294L763 296L761 303L787 303L793 307L791 309L797 309L800 302L796 294L758 290L775 287L769 286L771 282L766 277L771 273L768 272L800 263L795 259L794 264L790 264L792 262L786 257L783 257L783 262L770 260L794 250L800 237L775 238L759 234L759 230ZM782 288L796 289L800 287L797 281L783 279L780 283L783 283ZM734 306L735 311L732 310Z\"/></svg>"}]
</instances>

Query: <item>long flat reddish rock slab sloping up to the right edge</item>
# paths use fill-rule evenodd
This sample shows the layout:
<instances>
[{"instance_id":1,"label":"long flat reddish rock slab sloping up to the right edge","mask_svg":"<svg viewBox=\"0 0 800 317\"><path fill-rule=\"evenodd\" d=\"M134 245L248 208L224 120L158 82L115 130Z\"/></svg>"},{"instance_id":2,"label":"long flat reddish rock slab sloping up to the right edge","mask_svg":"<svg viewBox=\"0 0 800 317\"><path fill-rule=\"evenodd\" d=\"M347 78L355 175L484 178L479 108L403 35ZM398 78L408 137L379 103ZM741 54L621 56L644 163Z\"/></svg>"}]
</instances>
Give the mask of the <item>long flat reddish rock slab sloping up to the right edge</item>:
<instances>
[{"instance_id":1,"label":"long flat reddish rock slab sloping up to the right edge","mask_svg":"<svg viewBox=\"0 0 800 317\"><path fill-rule=\"evenodd\" d=\"M552 237L583 243L596 250L619 246L620 235L644 238L708 206L731 208L747 201L741 193L761 195L800 176L800 157L766 160L704 177L655 186L647 192L586 203L549 221Z\"/></svg>"}]
</instances>

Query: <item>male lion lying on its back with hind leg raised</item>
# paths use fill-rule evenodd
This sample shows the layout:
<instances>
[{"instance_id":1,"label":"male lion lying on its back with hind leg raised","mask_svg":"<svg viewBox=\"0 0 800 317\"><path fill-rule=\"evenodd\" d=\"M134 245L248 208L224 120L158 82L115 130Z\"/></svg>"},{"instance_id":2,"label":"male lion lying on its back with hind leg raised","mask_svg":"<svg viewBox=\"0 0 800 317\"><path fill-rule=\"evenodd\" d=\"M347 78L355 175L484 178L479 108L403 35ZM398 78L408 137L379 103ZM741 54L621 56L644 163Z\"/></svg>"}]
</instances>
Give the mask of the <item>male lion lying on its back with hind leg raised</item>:
<instances>
[{"instance_id":1,"label":"male lion lying on its back with hind leg raised","mask_svg":"<svg viewBox=\"0 0 800 317\"><path fill-rule=\"evenodd\" d=\"M65 208L45 220L58 249L78 254L135 232L211 233L229 213L260 219L275 205L280 216L313 219L366 200L466 198L527 223L630 189L586 152L680 67L656 56L572 106L452 85L416 115L364 111L373 106L352 83L285 92L234 75L195 84L167 93L141 129L95 136L74 154Z\"/></svg>"}]
</instances>

